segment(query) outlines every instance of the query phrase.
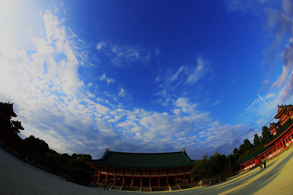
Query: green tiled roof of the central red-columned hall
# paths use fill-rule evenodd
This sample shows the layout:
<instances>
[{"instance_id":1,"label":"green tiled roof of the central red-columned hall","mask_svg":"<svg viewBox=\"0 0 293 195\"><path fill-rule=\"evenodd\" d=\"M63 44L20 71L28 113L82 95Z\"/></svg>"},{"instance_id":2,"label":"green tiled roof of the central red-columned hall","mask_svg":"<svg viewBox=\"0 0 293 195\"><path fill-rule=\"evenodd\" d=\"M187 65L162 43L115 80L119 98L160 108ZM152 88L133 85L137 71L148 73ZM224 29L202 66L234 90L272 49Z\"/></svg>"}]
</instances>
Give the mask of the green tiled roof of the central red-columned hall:
<instances>
[{"instance_id":1,"label":"green tiled roof of the central red-columned hall","mask_svg":"<svg viewBox=\"0 0 293 195\"><path fill-rule=\"evenodd\" d=\"M106 151L101 159L86 162L115 168L159 169L195 165L186 152L126 153Z\"/></svg>"}]
</instances>

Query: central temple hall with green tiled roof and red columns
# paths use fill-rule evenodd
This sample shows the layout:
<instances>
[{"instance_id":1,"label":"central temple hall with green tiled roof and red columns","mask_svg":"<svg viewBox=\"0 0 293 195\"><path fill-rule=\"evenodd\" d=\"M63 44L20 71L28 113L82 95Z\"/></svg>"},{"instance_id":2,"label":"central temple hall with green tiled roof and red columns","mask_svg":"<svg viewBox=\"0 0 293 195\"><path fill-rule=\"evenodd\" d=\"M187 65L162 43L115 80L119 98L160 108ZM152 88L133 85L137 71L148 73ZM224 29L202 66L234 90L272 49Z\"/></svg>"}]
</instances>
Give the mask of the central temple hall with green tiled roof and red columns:
<instances>
[{"instance_id":1,"label":"central temple hall with green tiled roof and red columns","mask_svg":"<svg viewBox=\"0 0 293 195\"><path fill-rule=\"evenodd\" d=\"M107 149L102 158L85 163L96 169L95 182L120 186L161 187L193 182L189 173L197 160L184 149L169 153L126 153Z\"/></svg>"}]
</instances>

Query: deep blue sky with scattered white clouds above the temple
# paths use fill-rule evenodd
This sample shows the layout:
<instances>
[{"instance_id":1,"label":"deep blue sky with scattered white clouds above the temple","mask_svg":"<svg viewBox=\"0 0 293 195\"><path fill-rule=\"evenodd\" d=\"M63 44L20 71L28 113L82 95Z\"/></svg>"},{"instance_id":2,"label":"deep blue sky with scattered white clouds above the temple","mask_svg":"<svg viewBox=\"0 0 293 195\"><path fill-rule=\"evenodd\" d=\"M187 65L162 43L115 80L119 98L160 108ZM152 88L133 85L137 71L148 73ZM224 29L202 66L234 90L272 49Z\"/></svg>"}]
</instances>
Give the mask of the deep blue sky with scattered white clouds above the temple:
<instances>
[{"instance_id":1,"label":"deep blue sky with scattered white clouds above the temple","mask_svg":"<svg viewBox=\"0 0 293 195\"><path fill-rule=\"evenodd\" d=\"M59 153L229 155L293 103L292 1L0 1L0 101Z\"/></svg>"}]
</instances>

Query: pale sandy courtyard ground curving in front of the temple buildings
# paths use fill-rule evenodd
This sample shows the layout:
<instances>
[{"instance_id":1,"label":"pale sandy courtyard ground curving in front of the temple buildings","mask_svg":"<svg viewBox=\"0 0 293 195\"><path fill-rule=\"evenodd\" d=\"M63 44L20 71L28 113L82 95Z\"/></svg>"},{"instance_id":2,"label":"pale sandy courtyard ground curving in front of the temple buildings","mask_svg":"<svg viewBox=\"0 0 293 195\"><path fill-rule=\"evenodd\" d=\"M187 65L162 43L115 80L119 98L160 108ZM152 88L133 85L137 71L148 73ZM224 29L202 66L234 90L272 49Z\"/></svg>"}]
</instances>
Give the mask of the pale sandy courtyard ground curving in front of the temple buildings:
<instances>
[{"instance_id":1,"label":"pale sandy courtyard ground curving in front of the temple buildings","mask_svg":"<svg viewBox=\"0 0 293 195\"><path fill-rule=\"evenodd\" d=\"M292 195L292 165L293 146L267 162L264 170L255 168L221 184L164 192L104 191L101 188L84 187L61 180L0 149L0 194Z\"/></svg>"}]
</instances>

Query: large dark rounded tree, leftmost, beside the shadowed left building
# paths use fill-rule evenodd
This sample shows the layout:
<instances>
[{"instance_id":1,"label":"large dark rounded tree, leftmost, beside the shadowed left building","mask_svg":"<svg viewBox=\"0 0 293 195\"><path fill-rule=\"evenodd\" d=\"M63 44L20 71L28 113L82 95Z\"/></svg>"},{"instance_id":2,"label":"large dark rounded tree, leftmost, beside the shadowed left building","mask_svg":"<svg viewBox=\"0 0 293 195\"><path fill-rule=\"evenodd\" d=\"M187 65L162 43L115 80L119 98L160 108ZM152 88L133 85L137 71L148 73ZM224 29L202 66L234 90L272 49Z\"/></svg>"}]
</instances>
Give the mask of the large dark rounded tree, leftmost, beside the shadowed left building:
<instances>
[{"instance_id":1,"label":"large dark rounded tree, leftmost, beside the shadowed left building","mask_svg":"<svg viewBox=\"0 0 293 195\"><path fill-rule=\"evenodd\" d=\"M47 151L49 150L49 146L44 140L35 138L35 136L33 135L30 135L30 137L23 139L23 141L25 141L27 146L44 156L46 156Z\"/></svg>"}]
</instances>

